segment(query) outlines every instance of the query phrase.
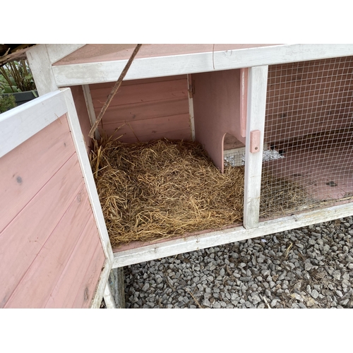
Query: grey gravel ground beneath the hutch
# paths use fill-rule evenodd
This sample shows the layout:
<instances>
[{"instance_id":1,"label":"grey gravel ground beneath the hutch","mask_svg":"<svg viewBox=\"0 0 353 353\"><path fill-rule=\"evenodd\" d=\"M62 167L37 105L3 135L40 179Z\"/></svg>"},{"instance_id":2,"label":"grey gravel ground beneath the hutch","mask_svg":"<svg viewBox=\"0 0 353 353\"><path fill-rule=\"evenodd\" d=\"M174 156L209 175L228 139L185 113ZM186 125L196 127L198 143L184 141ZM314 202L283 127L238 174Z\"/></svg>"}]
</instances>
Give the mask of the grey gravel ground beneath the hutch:
<instances>
[{"instance_id":1,"label":"grey gravel ground beneath the hutch","mask_svg":"<svg viewBox=\"0 0 353 353\"><path fill-rule=\"evenodd\" d=\"M124 268L126 308L353 308L353 218Z\"/></svg>"}]
</instances>

